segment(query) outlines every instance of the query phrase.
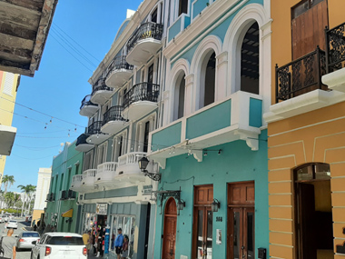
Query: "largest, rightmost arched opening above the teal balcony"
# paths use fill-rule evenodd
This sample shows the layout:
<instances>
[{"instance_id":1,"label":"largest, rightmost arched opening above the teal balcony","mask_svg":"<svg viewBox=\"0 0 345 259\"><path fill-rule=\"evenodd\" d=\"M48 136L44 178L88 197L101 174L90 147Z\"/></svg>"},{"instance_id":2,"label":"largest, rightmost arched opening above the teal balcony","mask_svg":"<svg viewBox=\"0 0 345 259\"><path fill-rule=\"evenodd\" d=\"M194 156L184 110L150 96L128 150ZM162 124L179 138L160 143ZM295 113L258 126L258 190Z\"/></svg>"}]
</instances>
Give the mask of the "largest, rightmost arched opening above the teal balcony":
<instances>
[{"instance_id":1,"label":"largest, rightmost arched opening above the teal balcony","mask_svg":"<svg viewBox=\"0 0 345 259\"><path fill-rule=\"evenodd\" d=\"M244 35L241 48L241 91L259 95L259 25Z\"/></svg>"}]
</instances>

